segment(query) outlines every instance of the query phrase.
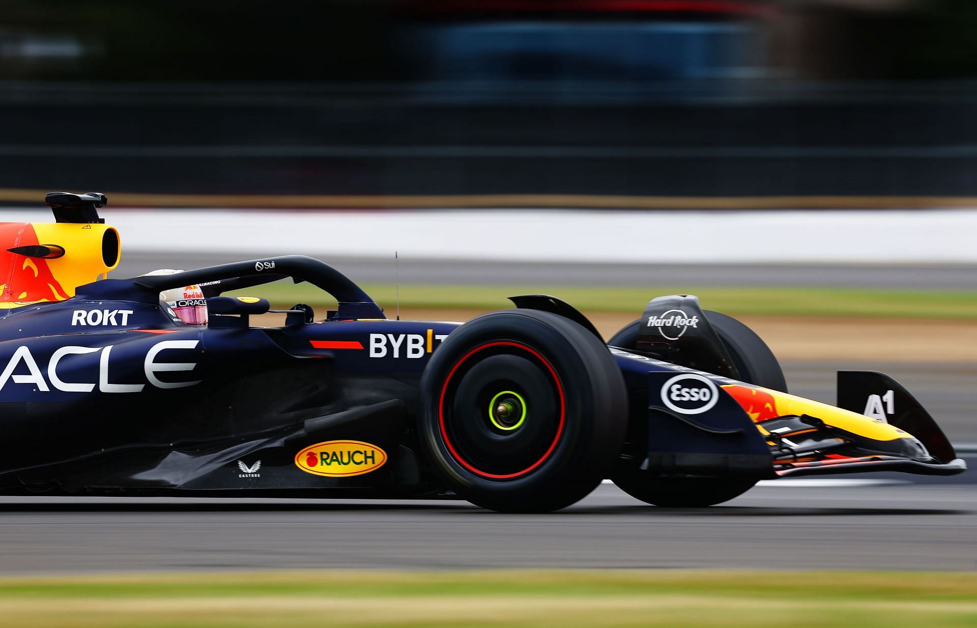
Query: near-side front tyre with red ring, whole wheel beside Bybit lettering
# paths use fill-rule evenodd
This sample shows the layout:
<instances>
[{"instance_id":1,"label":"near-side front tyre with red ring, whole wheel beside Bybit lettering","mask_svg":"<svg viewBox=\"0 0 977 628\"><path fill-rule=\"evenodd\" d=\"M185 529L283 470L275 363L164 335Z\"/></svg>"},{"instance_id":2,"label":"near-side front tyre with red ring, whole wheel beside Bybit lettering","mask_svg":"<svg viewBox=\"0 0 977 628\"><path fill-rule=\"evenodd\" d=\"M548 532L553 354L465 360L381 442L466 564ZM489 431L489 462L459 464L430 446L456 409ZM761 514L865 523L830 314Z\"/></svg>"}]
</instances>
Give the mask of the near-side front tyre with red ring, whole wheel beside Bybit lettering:
<instances>
[{"instance_id":1,"label":"near-side front tyre with red ring, whole wheel beside Bybit lettering","mask_svg":"<svg viewBox=\"0 0 977 628\"><path fill-rule=\"evenodd\" d=\"M419 429L459 496L499 512L548 512L607 477L626 403L600 339L557 314L503 310L451 332L431 357Z\"/></svg>"}]
</instances>

